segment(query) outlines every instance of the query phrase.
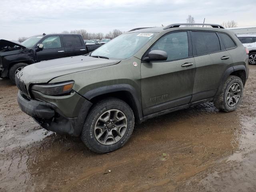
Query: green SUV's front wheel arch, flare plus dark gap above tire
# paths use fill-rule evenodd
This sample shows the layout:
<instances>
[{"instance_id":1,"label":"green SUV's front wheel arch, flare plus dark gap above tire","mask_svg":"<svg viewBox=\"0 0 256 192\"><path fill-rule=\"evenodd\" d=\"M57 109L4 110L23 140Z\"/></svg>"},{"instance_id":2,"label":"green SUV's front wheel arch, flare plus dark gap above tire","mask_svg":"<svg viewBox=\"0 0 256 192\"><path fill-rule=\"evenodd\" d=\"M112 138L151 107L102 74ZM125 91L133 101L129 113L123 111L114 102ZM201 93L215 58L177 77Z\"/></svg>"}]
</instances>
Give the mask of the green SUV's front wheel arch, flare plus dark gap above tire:
<instances>
[{"instance_id":1,"label":"green SUV's front wheel arch, flare plus dark gap above tire","mask_svg":"<svg viewBox=\"0 0 256 192\"><path fill-rule=\"evenodd\" d=\"M116 84L94 88L86 92L83 96L93 104L108 97L119 98L132 108L135 121L141 123L142 108L140 94L138 94L136 89L129 84Z\"/></svg>"}]
</instances>

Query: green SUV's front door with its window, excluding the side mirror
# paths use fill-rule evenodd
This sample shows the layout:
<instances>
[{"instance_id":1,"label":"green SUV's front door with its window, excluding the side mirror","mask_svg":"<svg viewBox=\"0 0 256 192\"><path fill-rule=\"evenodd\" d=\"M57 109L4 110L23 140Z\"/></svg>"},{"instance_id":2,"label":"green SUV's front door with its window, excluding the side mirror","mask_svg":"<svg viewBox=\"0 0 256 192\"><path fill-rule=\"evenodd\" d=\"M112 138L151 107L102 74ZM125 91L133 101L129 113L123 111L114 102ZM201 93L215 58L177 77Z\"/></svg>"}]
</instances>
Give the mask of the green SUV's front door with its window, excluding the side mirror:
<instances>
[{"instance_id":1,"label":"green SUV's front door with its window, excluding the side mirror","mask_svg":"<svg viewBox=\"0 0 256 192\"><path fill-rule=\"evenodd\" d=\"M190 45L186 31L172 32L161 37L148 50L163 50L168 58L141 64L144 116L190 102L196 72Z\"/></svg>"}]
</instances>

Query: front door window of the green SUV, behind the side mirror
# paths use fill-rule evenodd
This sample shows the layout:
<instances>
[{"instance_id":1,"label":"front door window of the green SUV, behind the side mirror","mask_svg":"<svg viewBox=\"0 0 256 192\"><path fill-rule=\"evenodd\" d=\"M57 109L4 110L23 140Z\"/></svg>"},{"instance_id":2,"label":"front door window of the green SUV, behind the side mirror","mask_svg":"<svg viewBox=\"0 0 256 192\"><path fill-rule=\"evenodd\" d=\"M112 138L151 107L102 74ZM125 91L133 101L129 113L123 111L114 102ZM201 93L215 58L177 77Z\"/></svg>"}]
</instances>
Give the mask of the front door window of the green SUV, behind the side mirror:
<instances>
[{"instance_id":1,"label":"front door window of the green SUV, behind the side mirror","mask_svg":"<svg viewBox=\"0 0 256 192\"><path fill-rule=\"evenodd\" d=\"M167 61L188 57L187 32L170 33L161 37L150 50L162 50L167 52Z\"/></svg>"}]
</instances>

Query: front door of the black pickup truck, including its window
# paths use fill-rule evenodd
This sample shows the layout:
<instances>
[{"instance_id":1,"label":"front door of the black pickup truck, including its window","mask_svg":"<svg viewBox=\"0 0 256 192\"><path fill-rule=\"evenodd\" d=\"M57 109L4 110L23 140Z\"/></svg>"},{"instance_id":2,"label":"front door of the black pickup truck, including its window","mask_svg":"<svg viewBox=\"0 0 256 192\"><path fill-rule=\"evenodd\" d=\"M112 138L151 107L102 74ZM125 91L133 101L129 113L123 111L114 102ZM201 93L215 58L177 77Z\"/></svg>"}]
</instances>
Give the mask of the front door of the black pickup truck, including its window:
<instances>
[{"instance_id":1,"label":"front door of the black pickup truck, including its window","mask_svg":"<svg viewBox=\"0 0 256 192\"><path fill-rule=\"evenodd\" d=\"M44 47L42 49L36 48L38 62L65 57L65 50L59 35L47 36L39 43L43 44Z\"/></svg>"}]
</instances>

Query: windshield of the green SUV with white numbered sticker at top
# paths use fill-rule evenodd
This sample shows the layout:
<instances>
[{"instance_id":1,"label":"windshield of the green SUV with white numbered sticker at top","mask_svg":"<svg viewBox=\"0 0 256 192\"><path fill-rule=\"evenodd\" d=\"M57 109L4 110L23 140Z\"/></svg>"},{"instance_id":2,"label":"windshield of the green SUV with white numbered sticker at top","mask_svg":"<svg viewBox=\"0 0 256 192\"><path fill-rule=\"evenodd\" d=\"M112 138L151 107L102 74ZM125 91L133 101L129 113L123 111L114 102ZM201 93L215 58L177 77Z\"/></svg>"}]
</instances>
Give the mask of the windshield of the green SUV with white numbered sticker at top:
<instances>
[{"instance_id":1,"label":"windshield of the green SUV with white numbered sticker at top","mask_svg":"<svg viewBox=\"0 0 256 192\"><path fill-rule=\"evenodd\" d=\"M100 46L91 56L104 56L111 59L124 60L133 56L156 33L126 33Z\"/></svg>"}]
</instances>

